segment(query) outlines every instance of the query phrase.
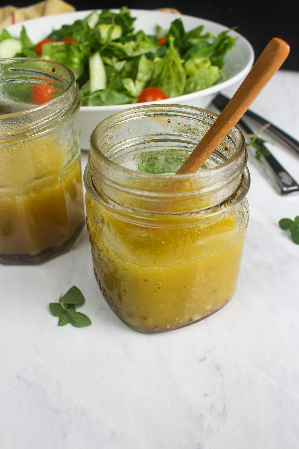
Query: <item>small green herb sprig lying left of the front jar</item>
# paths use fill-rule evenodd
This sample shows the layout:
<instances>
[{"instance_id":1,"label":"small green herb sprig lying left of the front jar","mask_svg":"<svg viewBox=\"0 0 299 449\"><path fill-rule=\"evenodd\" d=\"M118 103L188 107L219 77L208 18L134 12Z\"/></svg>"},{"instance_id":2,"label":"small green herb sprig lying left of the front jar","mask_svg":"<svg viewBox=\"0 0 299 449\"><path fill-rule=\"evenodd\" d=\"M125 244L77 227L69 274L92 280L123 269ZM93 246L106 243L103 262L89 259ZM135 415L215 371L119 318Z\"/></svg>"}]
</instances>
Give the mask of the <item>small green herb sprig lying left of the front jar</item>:
<instances>
[{"instance_id":1,"label":"small green herb sprig lying left of the front jar","mask_svg":"<svg viewBox=\"0 0 299 449\"><path fill-rule=\"evenodd\" d=\"M65 295L60 296L59 303L50 303L49 309L54 317L59 317L58 326L71 323L75 327L84 327L91 324L84 313L76 312L75 304L84 303L85 298L78 287L71 287Z\"/></svg>"}]
</instances>

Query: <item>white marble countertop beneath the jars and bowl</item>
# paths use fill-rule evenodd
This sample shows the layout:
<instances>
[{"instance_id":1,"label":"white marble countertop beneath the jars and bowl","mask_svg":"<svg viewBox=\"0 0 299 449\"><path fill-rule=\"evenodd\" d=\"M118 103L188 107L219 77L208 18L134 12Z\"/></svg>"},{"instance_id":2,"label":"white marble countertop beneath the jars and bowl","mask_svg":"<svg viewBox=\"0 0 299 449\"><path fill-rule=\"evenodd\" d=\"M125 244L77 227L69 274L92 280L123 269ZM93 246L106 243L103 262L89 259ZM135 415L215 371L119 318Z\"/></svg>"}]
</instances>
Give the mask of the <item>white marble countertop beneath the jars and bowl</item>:
<instances>
[{"instance_id":1,"label":"white marble countertop beneath the jars and bowl","mask_svg":"<svg viewBox=\"0 0 299 449\"><path fill-rule=\"evenodd\" d=\"M299 73L279 71L251 109L299 140ZM299 158L273 153L299 181ZM299 215L299 194L280 197L248 166L237 291L192 326L146 335L120 321L86 229L41 265L0 266L0 448L299 447L299 246L277 224ZM48 304L74 284L92 325L60 328Z\"/></svg>"}]
</instances>

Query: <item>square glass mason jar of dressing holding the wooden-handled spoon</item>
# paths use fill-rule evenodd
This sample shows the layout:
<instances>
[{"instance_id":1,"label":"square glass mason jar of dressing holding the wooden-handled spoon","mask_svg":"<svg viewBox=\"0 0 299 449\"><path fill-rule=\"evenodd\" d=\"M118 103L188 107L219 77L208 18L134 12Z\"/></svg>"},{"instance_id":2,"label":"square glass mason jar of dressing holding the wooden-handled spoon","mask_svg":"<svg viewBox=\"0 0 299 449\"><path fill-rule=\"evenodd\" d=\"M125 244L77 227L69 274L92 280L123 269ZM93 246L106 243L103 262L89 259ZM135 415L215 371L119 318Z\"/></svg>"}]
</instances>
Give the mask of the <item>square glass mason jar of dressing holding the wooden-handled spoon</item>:
<instances>
[{"instance_id":1,"label":"square glass mason jar of dressing holding the wooden-handled spoon","mask_svg":"<svg viewBox=\"0 0 299 449\"><path fill-rule=\"evenodd\" d=\"M242 133L234 127L199 172L174 174L216 118L139 106L91 135L84 183L95 278L134 329L186 326L234 295L249 217Z\"/></svg>"}]
</instances>

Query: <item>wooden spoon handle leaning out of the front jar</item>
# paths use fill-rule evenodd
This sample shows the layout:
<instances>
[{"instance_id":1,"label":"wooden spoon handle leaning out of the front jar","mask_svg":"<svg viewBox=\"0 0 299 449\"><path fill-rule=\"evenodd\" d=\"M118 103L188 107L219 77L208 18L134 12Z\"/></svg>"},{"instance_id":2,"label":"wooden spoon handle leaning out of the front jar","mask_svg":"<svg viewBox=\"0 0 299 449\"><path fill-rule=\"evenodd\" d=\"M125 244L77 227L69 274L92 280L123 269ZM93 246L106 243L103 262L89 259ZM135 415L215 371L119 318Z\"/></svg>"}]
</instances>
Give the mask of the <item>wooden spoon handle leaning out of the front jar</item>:
<instances>
[{"instance_id":1,"label":"wooden spoon handle leaning out of the front jar","mask_svg":"<svg viewBox=\"0 0 299 449\"><path fill-rule=\"evenodd\" d=\"M182 167L178 169L176 175L197 172L228 132L238 123L244 112L286 60L289 52L290 46L284 40L278 37L270 40L234 97L225 106Z\"/></svg>"}]
</instances>

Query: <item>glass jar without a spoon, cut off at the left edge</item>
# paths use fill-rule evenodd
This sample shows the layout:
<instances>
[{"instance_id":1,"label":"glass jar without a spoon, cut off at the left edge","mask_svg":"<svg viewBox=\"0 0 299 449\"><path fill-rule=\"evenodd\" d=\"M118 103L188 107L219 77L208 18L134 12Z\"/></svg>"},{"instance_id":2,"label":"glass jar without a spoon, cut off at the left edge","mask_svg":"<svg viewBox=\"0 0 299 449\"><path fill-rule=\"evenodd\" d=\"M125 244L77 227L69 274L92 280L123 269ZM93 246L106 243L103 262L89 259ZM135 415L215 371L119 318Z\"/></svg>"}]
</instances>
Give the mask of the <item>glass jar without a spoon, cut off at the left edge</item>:
<instances>
[{"instance_id":1,"label":"glass jar without a spoon, cut off at the left edge","mask_svg":"<svg viewBox=\"0 0 299 449\"><path fill-rule=\"evenodd\" d=\"M84 225L80 95L56 62L0 60L0 261L36 263Z\"/></svg>"}]
</instances>

